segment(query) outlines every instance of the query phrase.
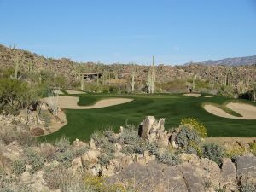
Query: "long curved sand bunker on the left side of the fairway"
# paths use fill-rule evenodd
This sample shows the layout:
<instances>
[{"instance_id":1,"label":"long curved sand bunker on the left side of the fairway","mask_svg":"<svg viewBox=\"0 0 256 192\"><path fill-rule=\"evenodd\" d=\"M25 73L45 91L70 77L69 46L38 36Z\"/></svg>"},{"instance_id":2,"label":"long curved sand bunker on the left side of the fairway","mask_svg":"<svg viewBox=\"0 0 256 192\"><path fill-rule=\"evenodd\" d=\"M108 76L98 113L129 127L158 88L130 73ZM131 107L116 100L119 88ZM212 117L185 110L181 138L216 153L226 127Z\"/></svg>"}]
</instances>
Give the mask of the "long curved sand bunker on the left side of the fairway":
<instances>
[{"instance_id":1,"label":"long curved sand bunker on the left side of the fairway","mask_svg":"<svg viewBox=\"0 0 256 192\"><path fill-rule=\"evenodd\" d=\"M44 98L44 102L48 103L50 97ZM91 108L106 108L113 105L123 104L125 102L131 102L133 99L127 98L110 98L102 99L90 106L79 106L79 97L78 96L59 96L58 107L59 108L69 108L69 109L91 109Z\"/></svg>"}]
</instances>

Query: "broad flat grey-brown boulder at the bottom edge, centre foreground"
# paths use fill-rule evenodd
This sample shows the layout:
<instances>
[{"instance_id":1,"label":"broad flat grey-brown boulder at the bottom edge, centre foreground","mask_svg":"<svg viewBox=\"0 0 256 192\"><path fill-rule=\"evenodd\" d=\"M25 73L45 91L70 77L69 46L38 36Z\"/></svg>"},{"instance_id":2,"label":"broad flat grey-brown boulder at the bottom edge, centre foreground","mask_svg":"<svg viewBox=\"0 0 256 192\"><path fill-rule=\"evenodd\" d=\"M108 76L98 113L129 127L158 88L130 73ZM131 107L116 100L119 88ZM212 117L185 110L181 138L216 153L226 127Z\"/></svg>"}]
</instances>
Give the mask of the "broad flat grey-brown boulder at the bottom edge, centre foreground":
<instances>
[{"instance_id":1,"label":"broad flat grey-brown boulder at the bottom edge, centre foreground","mask_svg":"<svg viewBox=\"0 0 256 192\"><path fill-rule=\"evenodd\" d=\"M125 169L107 178L108 183L131 183L134 190L139 191L177 191L188 192L183 174L175 166L150 163L142 165L133 163Z\"/></svg>"}]
</instances>

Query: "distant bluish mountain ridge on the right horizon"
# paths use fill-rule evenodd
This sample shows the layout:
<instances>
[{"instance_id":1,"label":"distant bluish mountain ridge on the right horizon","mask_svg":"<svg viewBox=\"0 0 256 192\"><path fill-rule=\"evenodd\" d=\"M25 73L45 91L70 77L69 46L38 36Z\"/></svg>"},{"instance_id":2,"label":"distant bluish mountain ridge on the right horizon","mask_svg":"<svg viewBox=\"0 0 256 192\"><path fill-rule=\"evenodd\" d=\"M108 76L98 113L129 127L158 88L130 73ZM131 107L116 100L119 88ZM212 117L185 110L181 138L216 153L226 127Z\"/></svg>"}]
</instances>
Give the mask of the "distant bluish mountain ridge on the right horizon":
<instances>
[{"instance_id":1,"label":"distant bluish mountain ridge on the right horizon","mask_svg":"<svg viewBox=\"0 0 256 192\"><path fill-rule=\"evenodd\" d=\"M223 60L208 60L204 62L199 62L199 64L204 65L226 65L226 66L239 66L239 65L253 65L256 64L256 55L244 56L244 57L234 57L226 58Z\"/></svg>"}]
</instances>

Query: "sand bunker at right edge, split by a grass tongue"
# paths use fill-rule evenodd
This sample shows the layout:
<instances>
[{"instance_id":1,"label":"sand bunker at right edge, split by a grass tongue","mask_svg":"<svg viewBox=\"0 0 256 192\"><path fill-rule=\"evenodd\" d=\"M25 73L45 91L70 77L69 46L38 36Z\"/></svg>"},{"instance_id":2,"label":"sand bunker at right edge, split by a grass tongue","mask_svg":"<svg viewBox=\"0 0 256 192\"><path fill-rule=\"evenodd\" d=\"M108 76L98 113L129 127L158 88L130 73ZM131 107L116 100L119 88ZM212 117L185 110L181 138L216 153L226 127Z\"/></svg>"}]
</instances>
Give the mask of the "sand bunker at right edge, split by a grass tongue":
<instances>
[{"instance_id":1,"label":"sand bunker at right edge, split by a grass tongue","mask_svg":"<svg viewBox=\"0 0 256 192\"><path fill-rule=\"evenodd\" d=\"M226 105L227 108L241 114L242 117L236 117L230 113L226 113L223 109L207 104L204 106L207 112L212 113L219 117L230 118L230 119L256 119L256 107L249 104L243 104L238 102L230 102Z\"/></svg>"}]
</instances>

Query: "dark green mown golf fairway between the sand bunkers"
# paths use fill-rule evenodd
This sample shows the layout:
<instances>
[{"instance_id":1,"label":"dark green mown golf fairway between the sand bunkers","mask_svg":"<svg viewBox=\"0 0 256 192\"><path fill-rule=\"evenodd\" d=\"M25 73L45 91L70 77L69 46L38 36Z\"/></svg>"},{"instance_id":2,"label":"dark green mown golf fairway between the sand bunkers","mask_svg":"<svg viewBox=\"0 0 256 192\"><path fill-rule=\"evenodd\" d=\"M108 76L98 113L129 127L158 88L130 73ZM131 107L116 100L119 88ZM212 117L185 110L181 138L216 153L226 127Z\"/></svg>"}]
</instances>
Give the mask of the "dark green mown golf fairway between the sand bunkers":
<instances>
[{"instance_id":1,"label":"dark green mown golf fairway between the sand bunkers","mask_svg":"<svg viewBox=\"0 0 256 192\"><path fill-rule=\"evenodd\" d=\"M61 136L89 140L95 131L112 129L119 131L120 125L135 125L148 115L157 119L166 118L166 129L177 127L181 119L193 117L206 125L209 137L256 137L256 120L226 119L208 113L202 108L203 103L222 105L224 102L247 102L244 100L227 99L221 96L199 97L183 96L182 94L161 95L111 95L111 94L83 94L79 96L79 105L86 106L106 98L131 98L132 102L95 109L65 109L67 125L45 137L53 141ZM253 102L247 102L255 105ZM228 113L230 110L227 110ZM233 115L237 115L233 113Z\"/></svg>"}]
</instances>

